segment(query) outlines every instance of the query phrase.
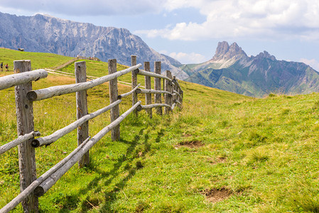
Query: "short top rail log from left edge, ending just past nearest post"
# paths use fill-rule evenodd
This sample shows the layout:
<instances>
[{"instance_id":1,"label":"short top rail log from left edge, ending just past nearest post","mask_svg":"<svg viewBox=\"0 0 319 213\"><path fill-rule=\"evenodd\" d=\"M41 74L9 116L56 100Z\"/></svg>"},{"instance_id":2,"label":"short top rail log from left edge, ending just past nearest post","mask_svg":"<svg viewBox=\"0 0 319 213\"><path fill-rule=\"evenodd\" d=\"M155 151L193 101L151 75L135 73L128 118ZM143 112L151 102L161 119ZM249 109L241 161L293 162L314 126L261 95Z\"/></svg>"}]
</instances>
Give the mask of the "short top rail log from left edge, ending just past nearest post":
<instances>
[{"instance_id":1,"label":"short top rail log from left edge, ending just past nearest post","mask_svg":"<svg viewBox=\"0 0 319 213\"><path fill-rule=\"evenodd\" d=\"M21 72L13 75L0 77L0 90L17 86L20 84L26 84L31 81L37 81L47 76L48 72L46 72L45 70L33 70L30 72Z\"/></svg>"}]
</instances>

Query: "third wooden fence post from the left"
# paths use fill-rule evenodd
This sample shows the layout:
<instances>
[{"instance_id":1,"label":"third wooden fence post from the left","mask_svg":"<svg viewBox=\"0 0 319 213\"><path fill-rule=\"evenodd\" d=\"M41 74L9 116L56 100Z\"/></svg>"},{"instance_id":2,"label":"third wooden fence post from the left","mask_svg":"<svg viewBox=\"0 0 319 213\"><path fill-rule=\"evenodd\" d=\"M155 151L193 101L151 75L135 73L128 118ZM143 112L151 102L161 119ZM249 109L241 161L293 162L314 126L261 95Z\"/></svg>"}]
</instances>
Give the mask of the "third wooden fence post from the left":
<instances>
[{"instance_id":1,"label":"third wooden fence post from the left","mask_svg":"<svg viewBox=\"0 0 319 213\"><path fill-rule=\"evenodd\" d=\"M117 72L117 60L110 59L109 60L109 75ZM133 73L133 72L132 72ZM117 97L119 97L119 92L117 89L117 78L109 81L109 102L112 104L117 101ZM115 121L119 117L119 105L113 107L111 109L111 122ZM111 138L113 141L119 140L119 125L115 126L111 131Z\"/></svg>"}]
</instances>

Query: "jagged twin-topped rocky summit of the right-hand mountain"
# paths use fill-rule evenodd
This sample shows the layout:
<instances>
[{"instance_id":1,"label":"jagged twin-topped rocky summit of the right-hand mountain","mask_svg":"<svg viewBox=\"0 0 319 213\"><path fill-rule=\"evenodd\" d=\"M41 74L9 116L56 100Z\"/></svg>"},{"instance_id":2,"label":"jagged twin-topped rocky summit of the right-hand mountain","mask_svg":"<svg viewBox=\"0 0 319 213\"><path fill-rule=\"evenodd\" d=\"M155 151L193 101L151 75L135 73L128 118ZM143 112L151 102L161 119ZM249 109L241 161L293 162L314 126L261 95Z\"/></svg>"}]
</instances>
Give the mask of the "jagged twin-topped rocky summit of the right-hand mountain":
<instances>
[{"instance_id":1,"label":"jagged twin-topped rocky summit of the right-hand mountain","mask_svg":"<svg viewBox=\"0 0 319 213\"><path fill-rule=\"evenodd\" d=\"M244 50L237 45L236 42L229 46L227 41L223 41L218 43L212 60L229 60L232 58L234 58L234 60L238 60L239 58L243 57L247 57L247 55Z\"/></svg>"}]
</instances>

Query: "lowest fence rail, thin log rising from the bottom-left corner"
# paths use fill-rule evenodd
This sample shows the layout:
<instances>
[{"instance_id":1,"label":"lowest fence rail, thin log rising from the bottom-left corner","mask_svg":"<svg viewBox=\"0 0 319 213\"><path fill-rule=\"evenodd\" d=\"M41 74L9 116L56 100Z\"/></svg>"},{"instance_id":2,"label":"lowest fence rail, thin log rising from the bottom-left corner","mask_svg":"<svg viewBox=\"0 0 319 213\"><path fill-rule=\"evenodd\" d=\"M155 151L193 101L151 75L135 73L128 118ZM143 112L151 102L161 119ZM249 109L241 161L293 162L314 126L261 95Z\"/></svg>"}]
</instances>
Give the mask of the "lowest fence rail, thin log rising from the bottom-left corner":
<instances>
[{"instance_id":1,"label":"lowest fence rail, thin log rising from the bottom-left corner","mask_svg":"<svg viewBox=\"0 0 319 213\"><path fill-rule=\"evenodd\" d=\"M72 156L75 155L75 153L77 153L82 148L82 146L84 146L85 143L87 143L87 141L89 141L89 139L90 138L87 138L87 140L85 140L83 143L81 143L80 146L75 148L75 150L72 151L72 153L70 153L69 155L67 155L67 157L65 157L59 163L54 165L53 168L50 168L50 170L45 172L38 179L33 181L31 183L31 185L26 187L26 190L23 190L23 192L21 192L18 196L16 196L13 200L11 200L11 202L9 202L2 209L0 209L0 213L10 212L12 209L14 209L14 207L16 207L22 200L26 199L26 197L28 197L28 195L33 193L33 191L36 189L36 187L38 187L38 185L40 185L41 182L43 182L43 180L47 179L48 177L50 177L50 175L55 173L55 171L58 170L58 168L60 168L63 164L65 164L67 162L67 160L70 160L70 158L72 158Z\"/></svg>"}]
</instances>

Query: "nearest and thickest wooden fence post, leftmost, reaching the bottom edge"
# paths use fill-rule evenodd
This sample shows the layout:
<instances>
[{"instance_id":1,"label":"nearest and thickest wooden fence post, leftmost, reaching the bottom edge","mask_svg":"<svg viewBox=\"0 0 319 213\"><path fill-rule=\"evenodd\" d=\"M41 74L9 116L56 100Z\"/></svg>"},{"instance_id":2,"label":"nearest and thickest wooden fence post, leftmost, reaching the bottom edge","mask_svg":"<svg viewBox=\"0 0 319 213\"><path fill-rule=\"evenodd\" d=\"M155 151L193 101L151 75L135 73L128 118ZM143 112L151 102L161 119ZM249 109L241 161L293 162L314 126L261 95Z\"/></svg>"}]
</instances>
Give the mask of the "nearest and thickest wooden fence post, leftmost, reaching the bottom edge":
<instances>
[{"instance_id":1,"label":"nearest and thickest wooden fence post, leftmost, reaching the bottom edge","mask_svg":"<svg viewBox=\"0 0 319 213\"><path fill-rule=\"evenodd\" d=\"M15 73L31 71L30 60L13 61ZM26 93L32 90L32 83L21 84L15 87L16 90L16 119L18 136L34 131L33 124L33 102L26 98ZM21 192L36 180L36 151L31 146L30 140L18 146L18 161L20 170ZM24 212L38 212L38 197L33 193L21 202Z\"/></svg>"}]
</instances>

